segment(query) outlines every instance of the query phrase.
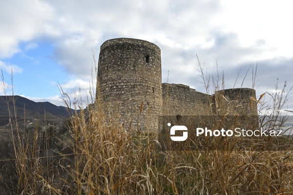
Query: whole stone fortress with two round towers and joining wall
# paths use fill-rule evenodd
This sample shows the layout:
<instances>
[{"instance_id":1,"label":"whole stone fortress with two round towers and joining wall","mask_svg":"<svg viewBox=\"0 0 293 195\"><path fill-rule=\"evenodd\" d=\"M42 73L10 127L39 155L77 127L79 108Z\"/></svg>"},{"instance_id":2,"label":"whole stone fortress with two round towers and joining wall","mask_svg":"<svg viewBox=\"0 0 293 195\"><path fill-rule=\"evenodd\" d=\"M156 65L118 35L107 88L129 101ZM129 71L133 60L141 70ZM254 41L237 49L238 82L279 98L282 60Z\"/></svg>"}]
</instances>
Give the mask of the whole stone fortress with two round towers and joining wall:
<instances>
[{"instance_id":1,"label":"whole stone fortress with two round towers and joining wall","mask_svg":"<svg viewBox=\"0 0 293 195\"><path fill-rule=\"evenodd\" d=\"M166 115L257 115L256 102L251 101L253 89L208 95L187 85L162 83L161 50L146 40L106 40L101 45L97 78L96 105L99 102L106 113L118 114L126 125L138 122L141 129L156 129L158 116Z\"/></svg>"}]
</instances>

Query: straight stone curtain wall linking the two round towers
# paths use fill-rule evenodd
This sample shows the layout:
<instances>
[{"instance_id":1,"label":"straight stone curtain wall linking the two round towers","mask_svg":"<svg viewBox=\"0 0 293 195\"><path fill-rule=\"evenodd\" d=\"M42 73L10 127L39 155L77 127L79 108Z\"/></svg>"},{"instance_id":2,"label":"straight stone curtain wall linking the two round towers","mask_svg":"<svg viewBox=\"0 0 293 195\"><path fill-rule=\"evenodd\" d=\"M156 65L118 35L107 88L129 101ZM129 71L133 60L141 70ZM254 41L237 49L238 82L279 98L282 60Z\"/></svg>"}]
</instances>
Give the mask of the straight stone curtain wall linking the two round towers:
<instances>
[{"instance_id":1,"label":"straight stone curtain wall linking the two round towers","mask_svg":"<svg viewBox=\"0 0 293 195\"><path fill-rule=\"evenodd\" d=\"M183 84L162 83L163 115L211 115L213 96Z\"/></svg>"}]
</instances>

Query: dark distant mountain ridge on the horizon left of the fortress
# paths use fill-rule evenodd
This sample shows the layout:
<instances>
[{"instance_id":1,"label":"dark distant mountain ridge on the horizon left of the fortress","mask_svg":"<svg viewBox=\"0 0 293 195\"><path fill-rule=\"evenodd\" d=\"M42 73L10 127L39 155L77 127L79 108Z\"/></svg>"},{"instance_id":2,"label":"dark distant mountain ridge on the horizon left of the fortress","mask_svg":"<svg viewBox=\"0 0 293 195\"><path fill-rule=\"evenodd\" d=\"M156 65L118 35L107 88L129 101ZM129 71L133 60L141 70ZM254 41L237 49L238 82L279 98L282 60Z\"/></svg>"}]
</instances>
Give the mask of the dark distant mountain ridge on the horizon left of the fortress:
<instances>
[{"instance_id":1,"label":"dark distant mountain ridge on the horizon left of the fortress","mask_svg":"<svg viewBox=\"0 0 293 195\"><path fill-rule=\"evenodd\" d=\"M56 106L50 102L34 102L21 96L0 96L0 127L9 123L9 110L14 116L14 107L20 124L56 124L74 113L73 109L68 111L64 106Z\"/></svg>"}]
</instances>

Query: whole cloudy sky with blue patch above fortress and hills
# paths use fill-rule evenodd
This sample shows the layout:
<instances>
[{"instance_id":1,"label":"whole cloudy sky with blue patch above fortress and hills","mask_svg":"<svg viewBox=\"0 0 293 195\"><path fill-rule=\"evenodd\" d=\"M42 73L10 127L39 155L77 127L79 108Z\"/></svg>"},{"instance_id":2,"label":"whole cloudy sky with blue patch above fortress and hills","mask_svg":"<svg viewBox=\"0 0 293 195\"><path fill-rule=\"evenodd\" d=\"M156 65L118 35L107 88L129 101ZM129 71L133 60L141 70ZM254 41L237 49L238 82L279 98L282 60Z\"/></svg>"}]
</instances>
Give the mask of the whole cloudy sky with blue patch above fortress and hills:
<instances>
[{"instance_id":1,"label":"whole cloudy sky with blue patch above fortress and hills","mask_svg":"<svg viewBox=\"0 0 293 195\"><path fill-rule=\"evenodd\" d=\"M4 82L11 87L13 70L15 94L34 101L63 105L58 83L85 100L93 56L120 37L161 48L163 82L205 92L197 55L207 75L216 77L216 64L224 71L225 88L239 71L235 87L252 87L252 64L258 96L274 93L277 79L280 88L293 84L291 0L1 0L0 7Z\"/></svg>"}]
</instances>

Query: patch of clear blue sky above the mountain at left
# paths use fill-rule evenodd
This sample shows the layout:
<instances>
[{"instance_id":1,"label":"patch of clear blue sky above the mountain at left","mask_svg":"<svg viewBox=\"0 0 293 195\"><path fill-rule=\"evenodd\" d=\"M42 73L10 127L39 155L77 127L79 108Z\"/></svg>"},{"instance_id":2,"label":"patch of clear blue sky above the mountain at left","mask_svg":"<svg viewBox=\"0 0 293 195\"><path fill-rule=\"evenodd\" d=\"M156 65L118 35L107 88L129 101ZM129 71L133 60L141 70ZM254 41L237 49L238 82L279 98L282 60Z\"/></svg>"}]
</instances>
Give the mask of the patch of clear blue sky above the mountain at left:
<instances>
[{"instance_id":1,"label":"patch of clear blue sky above the mountain at left","mask_svg":"<svg viewBox=\"0 0 293 195\"><path fill-rule=\"evenodd\" d=\"M22 42L19 48L20 52L12 58L2 60L6 65L22 68L21 73L13 74L17 95L38 98L60 95L57 84L69 80L69 75L54 60L54 45L45 41ZM10 74L3 71L7 83Z\"/></svg>"}]
</instances>

